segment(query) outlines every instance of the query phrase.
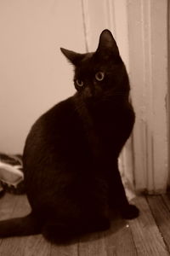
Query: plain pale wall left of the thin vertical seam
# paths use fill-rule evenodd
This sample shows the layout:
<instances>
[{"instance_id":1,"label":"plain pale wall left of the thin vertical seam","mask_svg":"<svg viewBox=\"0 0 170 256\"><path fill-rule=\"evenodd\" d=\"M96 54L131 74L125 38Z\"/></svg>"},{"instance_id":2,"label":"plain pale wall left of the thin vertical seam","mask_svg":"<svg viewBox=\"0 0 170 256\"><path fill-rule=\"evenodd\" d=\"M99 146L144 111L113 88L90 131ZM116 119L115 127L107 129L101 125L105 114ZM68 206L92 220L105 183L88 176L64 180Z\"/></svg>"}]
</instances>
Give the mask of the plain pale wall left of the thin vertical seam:
<instances>
[{"instance_id":1,"label":"plain pale wall left of the thin vertical seam","mask_svg":"<svg viewBox=\"0 0 170 256\"><path fill-rule=\"evenodd\" d=\"M79 0L0 1L0 151L22 153L37 117L74 93L59 47L85 51Z\"/></svg>"}]
</instances>

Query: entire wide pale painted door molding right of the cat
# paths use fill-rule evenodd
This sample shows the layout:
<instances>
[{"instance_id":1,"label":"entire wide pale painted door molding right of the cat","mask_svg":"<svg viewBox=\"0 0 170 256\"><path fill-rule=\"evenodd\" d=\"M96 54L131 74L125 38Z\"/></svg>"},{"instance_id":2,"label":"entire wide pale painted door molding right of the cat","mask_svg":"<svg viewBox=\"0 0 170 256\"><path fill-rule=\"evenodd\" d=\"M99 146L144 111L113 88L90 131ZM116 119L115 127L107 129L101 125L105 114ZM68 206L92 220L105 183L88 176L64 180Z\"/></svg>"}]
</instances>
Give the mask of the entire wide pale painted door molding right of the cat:
<instances>
[{"instance_id":1,"label":"entire wide pale painted door molding right of the cat","mask_svg":"<svg viewBox=\"0 0 170 256\"><path fill-rule=\"evenodd\" d=\"M167 189L167 0L127 0L136 189Z\"/></svg>"}]
</instances>

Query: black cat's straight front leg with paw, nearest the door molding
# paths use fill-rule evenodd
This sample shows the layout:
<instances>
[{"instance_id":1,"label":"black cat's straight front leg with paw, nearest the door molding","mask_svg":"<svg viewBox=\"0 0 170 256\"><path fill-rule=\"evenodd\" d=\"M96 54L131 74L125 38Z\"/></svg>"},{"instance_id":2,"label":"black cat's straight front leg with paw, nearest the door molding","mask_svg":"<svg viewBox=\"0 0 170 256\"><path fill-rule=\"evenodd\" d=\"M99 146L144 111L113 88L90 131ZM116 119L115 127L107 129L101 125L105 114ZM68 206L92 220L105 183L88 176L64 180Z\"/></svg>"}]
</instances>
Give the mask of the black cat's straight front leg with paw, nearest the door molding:
<instances>
[{"instance_id":1,"label":"black cat's straight front leg with paw, nearest the door molding","mask_svg":"<svg viewBox=\"0 0 170 256\"><path fill-rule=\"evenodd\" d=\"M112 168L111 168L112 169ZM134 205L129 204L125 189L122 184L122 178L118 170L118 166L114 166L109 175L109 201L111 208L118 208L122 213L123 218L137 218L139 209Z\"/></svg>"}]
</instances>

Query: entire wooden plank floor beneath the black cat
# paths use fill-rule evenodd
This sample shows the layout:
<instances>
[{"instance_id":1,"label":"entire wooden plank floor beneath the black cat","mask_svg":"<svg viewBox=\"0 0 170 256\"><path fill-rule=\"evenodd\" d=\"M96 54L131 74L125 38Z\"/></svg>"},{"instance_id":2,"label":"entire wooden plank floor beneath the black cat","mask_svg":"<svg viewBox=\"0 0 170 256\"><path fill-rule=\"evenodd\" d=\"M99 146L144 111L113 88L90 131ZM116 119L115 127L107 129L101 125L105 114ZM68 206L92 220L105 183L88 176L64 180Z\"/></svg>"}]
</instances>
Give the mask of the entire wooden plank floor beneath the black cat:
<instances>
[{"instance_id":1,"label":"entire wooden plank floor beneath the black cat","mask_svg":"<svg viewBox=\"0 0 170 256\"><path fill-rule=\"evenodd\" d=\"M170 255L170 196L139 196L133 200L139 218L116 218L111 230L84 236L67 246L54 246L42 235L0 240L2 256L164 256ZM30 211L26 195L6 194L0 199L0 219Z\"/></svg>"}]
</instances>

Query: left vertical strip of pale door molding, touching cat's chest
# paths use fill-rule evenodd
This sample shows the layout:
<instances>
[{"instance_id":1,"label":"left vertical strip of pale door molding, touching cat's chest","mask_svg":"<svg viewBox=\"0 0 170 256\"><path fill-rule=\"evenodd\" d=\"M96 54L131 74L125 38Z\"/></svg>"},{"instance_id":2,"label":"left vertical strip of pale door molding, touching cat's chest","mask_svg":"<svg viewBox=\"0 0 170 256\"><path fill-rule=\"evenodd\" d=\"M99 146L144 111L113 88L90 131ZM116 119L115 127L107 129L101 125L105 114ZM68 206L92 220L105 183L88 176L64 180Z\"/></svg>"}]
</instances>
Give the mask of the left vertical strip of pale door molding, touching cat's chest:
<instances>
[{"instance_id":1,"label":"left vertical strip of pale door molding, touching cat's chest","mask_svg":"<svg viewBox=\"0 0 170 256\"><path fill-rule=\"evenodd\" d=\"M136 121L133 129L133 162L135 188L143 190L146 181L144 122L144 43L141 1L127 1L129 38L129 75Z\"/></svg>"}]
</instances>

